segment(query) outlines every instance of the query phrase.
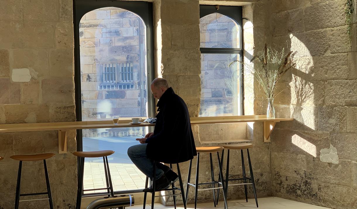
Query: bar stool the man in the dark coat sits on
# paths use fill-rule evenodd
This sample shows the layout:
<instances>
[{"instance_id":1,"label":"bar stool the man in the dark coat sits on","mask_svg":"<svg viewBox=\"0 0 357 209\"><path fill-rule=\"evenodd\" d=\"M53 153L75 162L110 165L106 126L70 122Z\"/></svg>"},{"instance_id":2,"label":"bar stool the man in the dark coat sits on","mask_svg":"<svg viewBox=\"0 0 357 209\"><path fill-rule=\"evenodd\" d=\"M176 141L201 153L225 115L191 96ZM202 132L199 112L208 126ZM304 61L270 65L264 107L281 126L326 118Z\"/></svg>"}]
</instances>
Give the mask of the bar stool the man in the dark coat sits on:
<instances>
[{"instance_id":1,"label":"bar stool the man in the dark coat sits on","mask_svg":"<svg viewBox=\"0 0 357 209\"><path fill-rule=\"evenodd\" d=\"M182 183L181 172L180 172L180 167L178 166L178 163L176 163L176 166L177 166L178 180L180 181L180 189L175 187L175 183L173 182L171 184L171 187L172 187L171 189L157 190L157 191L172 191L172 195L155 196L156 163L157 162L154 161L154 178L152 178L152 190L150 191L150 193L151 193L151 209L154 209L155 197L162 197L162 196L174 196L174 206L175 206L175 209L176 209L176 196L180 195L180 194L175 194L175 190L180 190L181 191L183 207L186 209L185 193L183 191L183 183ZM172 164L170 164L170 168L172 169ZM145 188L147 188L148 183L149 183L149 177L146 176ZM147 195L147 192L144 192L144 207L143 207L143 209L145 209L145 205L146 205L146 195Z\"/></svg>"}]
</instances>

